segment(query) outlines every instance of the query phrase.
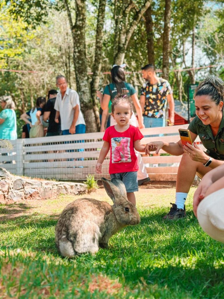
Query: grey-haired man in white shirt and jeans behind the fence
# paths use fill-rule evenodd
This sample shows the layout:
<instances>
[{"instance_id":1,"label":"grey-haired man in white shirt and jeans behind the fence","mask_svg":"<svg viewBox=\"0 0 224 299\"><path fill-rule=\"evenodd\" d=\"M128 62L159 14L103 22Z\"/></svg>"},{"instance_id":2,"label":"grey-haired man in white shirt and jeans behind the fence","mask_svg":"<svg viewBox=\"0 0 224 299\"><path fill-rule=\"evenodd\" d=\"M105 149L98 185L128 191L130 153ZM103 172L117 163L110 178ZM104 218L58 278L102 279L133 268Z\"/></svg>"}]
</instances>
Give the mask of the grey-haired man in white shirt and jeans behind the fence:
<instances>
[{"instance_id":1,"label":"grey-haired man in white shirt and jeans behind the fence","mask_svg":"<svg viewBox=\"0 0 224 299\"><path fill-rule=\"evenodd\" d=\"M60 115L62 135L85 133L85 120L80 109L78 93L67 87L67 81L62 75L56 77L56 86L60 91L54 105L55 122L59 122Z\"/></svg>"}]
</instances>

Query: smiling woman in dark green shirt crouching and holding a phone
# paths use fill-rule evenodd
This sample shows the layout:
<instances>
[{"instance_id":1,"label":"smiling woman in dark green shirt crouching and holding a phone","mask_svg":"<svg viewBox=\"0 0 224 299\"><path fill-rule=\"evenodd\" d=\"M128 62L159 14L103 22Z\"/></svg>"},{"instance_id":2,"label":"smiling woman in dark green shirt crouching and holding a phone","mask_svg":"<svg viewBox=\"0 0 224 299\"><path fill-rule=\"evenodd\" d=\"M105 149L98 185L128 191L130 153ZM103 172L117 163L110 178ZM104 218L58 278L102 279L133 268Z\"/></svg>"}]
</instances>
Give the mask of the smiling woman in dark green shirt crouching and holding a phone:
<instances>
[{"instance_id":1,"label":"smiling woman in dark green shirt crouching and holding a phone","mask_svg":"<svg viewBox=\"0 0 224 299\"><path fill-rule=\"evenodd\" d=\"M146 146L147 153L155 148L156 153L163 149L171 155L182 155L177 173L176 201L163 217L168 220L185 216L184 204L195 175L202 178L224 163L224 82L219 78L206 78L195 89L194 101L196 117L188 129L193 142L199 136L206 152L195 142L182 146L180 140L177 143L150 142Z\"/></svg>"}]
</instances>

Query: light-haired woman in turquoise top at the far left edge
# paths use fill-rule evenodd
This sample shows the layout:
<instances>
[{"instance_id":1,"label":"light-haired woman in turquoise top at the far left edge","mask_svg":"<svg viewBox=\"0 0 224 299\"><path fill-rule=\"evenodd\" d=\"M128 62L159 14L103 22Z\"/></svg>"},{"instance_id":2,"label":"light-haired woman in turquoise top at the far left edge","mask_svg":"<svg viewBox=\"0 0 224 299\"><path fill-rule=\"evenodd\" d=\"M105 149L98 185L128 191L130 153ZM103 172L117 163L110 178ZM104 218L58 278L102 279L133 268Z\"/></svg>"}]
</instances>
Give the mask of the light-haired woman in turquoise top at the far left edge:
<instances>
[{"instance_id":1,"label":"light-haired woman in turquoise top at the far left edge","mask_svg":"<svg viewBox=\"0 0 224 299\"><path fill-rule=\"evenodd\" d=\"M15 103L11 96L0 97L2 111L0 112L0 139L17 139Z\"/></svg>"}]
</instances>

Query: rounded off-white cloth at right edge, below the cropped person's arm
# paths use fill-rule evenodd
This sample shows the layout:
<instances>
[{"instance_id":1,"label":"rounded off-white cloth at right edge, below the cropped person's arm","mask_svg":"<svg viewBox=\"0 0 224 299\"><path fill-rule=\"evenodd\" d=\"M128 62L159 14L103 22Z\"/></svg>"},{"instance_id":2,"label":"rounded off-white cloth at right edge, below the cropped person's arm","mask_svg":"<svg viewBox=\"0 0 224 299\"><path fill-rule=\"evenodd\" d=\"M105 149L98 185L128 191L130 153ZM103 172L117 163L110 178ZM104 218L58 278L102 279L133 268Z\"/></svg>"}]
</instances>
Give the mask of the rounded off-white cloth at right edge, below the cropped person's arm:
<instances>
[{"instance_id":1,"label":"rounded off-white cloth at right edge, below the cropped person's arm","mask_svg":"<svg viewBox=\"0 0 224 299\"><path fill-rule=\"evenodd\" d=\"M203 231L224 243L224 189L206 196L198 205L197 218Z\"/></svg>"}]
</instances>

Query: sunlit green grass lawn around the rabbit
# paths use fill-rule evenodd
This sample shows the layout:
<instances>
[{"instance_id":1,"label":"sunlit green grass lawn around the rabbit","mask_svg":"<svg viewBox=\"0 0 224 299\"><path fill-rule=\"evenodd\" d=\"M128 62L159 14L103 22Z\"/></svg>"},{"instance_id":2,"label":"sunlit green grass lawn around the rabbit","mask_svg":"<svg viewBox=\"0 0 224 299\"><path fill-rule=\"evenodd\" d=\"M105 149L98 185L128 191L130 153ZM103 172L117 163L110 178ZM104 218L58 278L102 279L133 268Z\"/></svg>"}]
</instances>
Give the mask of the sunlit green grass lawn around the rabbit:
<instances>
[{"instance_id":1,"label":"sunlit green grass lawn around the rabbit","mask_svg":"<svg viewBox=\"0 0 224 299\"><path fill-rule=\"evenodd\" d=\"M40 213L22 206L23 215L0 223L0 298L224 298L224 245L199 227L194 190L185 219L162 221L175 193L166 189L139 199L141 223L114 235L108 250L72 260L57 253L54 227L73 199L45 201ZM5 206L0 214L7 215Z\"/></svg>"}]
</instances>

